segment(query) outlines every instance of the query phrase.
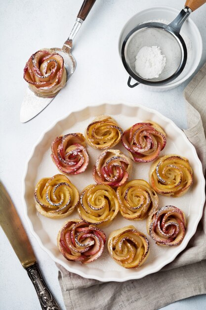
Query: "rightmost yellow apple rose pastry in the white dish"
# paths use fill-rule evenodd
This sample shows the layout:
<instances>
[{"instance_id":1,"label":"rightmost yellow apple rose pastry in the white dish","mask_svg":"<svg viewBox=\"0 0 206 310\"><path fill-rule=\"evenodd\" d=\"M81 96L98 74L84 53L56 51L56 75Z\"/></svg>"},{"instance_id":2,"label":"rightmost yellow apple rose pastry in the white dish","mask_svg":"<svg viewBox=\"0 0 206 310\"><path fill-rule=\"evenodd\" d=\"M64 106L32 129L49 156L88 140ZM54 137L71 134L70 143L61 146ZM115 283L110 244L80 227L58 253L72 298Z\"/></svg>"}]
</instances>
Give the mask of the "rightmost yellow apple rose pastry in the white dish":
<instances>
[{"instance_id":1,"label":"rightmost yellow apple rose pastry in the white dish","mask_svg":"<svg viewBox=\"0 0 206 310\"><path fill-rule=\"evenodd\" d=\"M192 185L193 171L187 158L169 154L152 164L149 179L158 194L180 197Z\"/></svg>"}]
</instances>

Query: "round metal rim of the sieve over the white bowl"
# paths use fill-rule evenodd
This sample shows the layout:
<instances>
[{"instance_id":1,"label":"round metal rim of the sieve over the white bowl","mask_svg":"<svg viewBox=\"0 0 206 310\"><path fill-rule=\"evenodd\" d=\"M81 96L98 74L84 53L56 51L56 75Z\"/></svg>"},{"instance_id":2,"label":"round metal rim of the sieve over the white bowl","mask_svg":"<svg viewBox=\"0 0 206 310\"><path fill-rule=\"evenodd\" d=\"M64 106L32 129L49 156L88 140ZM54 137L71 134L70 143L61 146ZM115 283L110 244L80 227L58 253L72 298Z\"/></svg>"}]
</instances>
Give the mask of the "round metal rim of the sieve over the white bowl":
<instances>
[{"instance_id":1,"label":"round metal rim of the sieve over the white bowl","mask_svg":"<svg viewBox=\"0 0 206 310\"><path fill-rule=\"evenodd\" d=\"M177 42L181 48L182 59L181 59L180 65L177 68L177 70L169 78L167 78L165 80L151 81L151 80L143 79L143 78L139 77L138 75L136 75L133 72L133 70L130 69L129 65L127 64L126 55L125 55L126 54L126 47L128 46L129 42L131 41L131 39L133 38L135 33L141 29L144 29L144 28L146 28L146 29L147 28L159 28L159 29L162 29L162 30L169 32L172 36L175 37L175 39L177 40ZM126 69L127 73L130 75L130 77L132 77L134 80L136 80L138 82L138 84L144 84L144 85L148 85L148 86L165 85L167 82L171 82L174 79L176 79L176 77L178 77L180 75L180 73L183 71L185 64L187 62L187 47L186 47L186 44L185 44L182 36L174 28L170 27L169 25L163 24L163 23L149 22L149 23L144 23L142 25L136 26L126 35L126 37L123 41L123 44L122 44L121 58L122 58L123 65L124 65L124 68Z\"/></svg>"}]
</instances>

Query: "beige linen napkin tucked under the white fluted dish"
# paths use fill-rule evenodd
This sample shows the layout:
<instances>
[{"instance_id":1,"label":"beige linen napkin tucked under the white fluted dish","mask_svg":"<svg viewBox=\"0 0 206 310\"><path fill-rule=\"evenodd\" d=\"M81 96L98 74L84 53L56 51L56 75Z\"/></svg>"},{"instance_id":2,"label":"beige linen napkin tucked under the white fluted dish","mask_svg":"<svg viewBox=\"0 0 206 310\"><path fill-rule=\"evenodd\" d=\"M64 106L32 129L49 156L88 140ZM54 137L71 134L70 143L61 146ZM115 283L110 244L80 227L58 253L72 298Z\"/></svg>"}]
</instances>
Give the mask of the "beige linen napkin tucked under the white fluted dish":
<instances>
[{"instance_id":1,"label":"beige linen napkin tucked under the white fluted dish","mask_svg":"<svg viewBox=\"0 0 206 310\"><path fill-rule=\"evenodd\" d=\"M184 130L206 170L206 64L184 90L189 129ZM201 116L202 119L201 119ZM203 120L203 122L202 122ZM204 124L204 127L203 127ZM68 310L157 310L177 300L206 293L206 213L187 248L161 271L123 283L84 279L59 268Z\"/></svg>"}]
</instances>

